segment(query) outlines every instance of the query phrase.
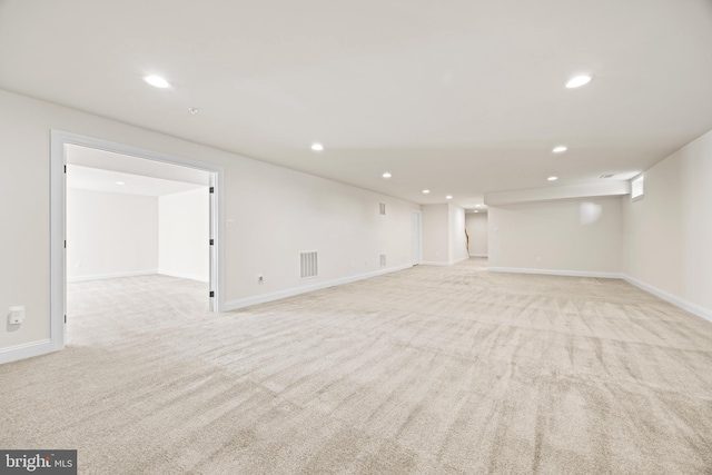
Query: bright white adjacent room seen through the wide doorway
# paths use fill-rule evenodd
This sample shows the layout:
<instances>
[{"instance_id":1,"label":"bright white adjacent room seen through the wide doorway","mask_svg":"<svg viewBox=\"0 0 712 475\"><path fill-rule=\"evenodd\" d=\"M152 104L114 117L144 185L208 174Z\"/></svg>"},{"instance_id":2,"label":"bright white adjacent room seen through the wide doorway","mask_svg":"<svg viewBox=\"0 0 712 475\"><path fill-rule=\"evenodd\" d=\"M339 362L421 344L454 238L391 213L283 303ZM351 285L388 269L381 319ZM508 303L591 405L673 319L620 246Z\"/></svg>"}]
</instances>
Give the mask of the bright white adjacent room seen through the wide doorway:
<instances>
[{"instance_id":1,"label":"bright white adjacent room seen through the wide doorway","mask_svg":"<svg viewBox=\"0 0 712 475\"><path fill-rule=\"evenodd\" d=\"M77 145L66 161L66 343L91 344L91 321L115 337L128 321L112 309L146 307L140 296L191 294L207 311L209 174Z\"/></svg>"}]
</instances>

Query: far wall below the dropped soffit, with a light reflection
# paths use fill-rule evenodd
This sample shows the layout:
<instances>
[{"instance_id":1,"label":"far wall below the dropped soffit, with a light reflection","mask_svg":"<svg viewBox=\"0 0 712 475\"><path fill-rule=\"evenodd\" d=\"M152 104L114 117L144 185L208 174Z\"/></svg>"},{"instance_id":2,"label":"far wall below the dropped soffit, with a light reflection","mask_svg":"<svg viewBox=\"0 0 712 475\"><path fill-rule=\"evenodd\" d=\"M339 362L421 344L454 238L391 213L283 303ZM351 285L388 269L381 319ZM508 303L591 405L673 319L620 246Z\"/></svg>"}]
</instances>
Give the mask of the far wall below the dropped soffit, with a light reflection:
<instances>
[{"instance_id":1,"label":"far wall below the dropped soffit, with a light reflection","mask_svg":"<svg viewBox=\"0 0 712 475\"><path fill-rule=\"evenodd\" d=\"M620 274L621 197L488 208L490 267Z\"/></svg>"}]
</instances>

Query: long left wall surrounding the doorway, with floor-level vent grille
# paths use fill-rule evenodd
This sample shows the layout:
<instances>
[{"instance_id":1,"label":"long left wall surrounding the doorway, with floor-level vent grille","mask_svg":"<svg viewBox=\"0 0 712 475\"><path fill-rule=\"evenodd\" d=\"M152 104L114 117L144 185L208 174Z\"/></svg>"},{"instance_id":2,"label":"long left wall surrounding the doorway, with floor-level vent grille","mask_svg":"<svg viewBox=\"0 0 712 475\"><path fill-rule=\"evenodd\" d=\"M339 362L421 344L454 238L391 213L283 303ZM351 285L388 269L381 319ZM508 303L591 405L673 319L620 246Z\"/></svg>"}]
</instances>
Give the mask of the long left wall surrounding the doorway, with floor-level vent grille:
<instances>
[{"instance_id":1,"label":"long left wall surrounding the doorway, with floor-level vent grille","mask_svg":"<svg viewBox=\"0 0 712 475\"><path fill-rule=\"evenodd\" d=\"M19 328L0 326L0 352L50 337L52 129L222 167L221 218L236 222L222 243L227 307L383 270L382 253L386 270L411 265L415 204L0 90L0 202L12 204L0 207L0 218L16 229L0 234L0 310L27 306ZM299 279L300 250L319 251L317 277Z\"/></svg>"}]
</instances>

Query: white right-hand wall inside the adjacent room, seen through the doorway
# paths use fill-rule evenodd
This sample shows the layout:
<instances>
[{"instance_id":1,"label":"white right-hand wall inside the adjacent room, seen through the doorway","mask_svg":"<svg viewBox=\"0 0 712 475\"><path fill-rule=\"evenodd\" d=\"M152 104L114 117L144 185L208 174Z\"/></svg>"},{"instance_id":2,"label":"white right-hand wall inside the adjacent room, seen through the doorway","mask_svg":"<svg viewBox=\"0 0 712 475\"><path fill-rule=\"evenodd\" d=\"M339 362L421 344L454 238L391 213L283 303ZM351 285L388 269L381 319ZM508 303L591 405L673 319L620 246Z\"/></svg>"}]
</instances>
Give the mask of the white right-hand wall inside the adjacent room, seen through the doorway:
<instances>
[{"instance_id":1,"label":"white right-hand wall inside the adjacent room, seen through the doorway","mask_svg":"<svg viewBox=\"0 0 712 475\"><path fill-rule=\"evenodd\" d=\"M208 187L158 198L158 273L209 281Z\"/></svg>"}]
</instances>

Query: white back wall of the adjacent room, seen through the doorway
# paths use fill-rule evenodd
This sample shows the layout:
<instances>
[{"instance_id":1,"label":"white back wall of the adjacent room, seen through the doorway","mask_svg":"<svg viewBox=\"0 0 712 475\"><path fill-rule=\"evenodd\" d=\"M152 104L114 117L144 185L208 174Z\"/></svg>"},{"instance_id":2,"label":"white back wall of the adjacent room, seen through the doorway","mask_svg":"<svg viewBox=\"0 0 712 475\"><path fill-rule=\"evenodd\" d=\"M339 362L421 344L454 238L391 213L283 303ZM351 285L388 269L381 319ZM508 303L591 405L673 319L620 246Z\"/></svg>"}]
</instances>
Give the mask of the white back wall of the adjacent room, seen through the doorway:
<instances>
[{"instance_id":1,"label":"white back wall of the adjacent room, seen through the doorway","mask_svg":"<svg viewBox=\"0 0 712 475\"><path fill-rule=\"evenodd\" d=\"M158 199L67 190L67 280L155 274Z\"/></svg>"}]
</instances>

